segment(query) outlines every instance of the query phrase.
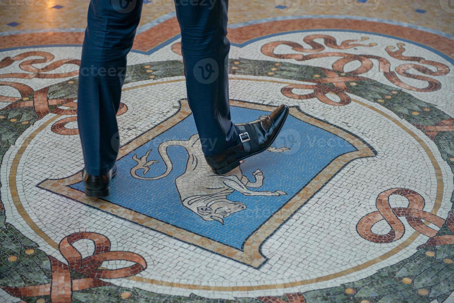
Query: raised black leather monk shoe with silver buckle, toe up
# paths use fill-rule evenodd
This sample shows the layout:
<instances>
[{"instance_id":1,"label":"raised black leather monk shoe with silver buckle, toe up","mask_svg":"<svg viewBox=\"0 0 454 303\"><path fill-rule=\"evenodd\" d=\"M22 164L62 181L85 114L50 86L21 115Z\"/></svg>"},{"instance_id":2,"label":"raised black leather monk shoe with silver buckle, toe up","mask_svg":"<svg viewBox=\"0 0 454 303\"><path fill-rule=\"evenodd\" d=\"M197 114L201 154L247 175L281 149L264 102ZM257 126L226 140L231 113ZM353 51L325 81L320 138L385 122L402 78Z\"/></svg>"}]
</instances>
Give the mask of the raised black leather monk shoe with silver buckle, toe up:
<instances>
[{"instance_id":1,"label":"raised black leather monk shoe with silver buckle, toe up","mask_svg":"<svg viewBox=\"0 0 454 303\"><path fill-rule=\"evenodd\" d=\"M288 116L288 106L280 105L271 114L257 121L238 124L240 144L220 154L205 156L215 174L227 174L240 165L242 159L261 153L271 146Z\"/></svg>"}]
</instances>

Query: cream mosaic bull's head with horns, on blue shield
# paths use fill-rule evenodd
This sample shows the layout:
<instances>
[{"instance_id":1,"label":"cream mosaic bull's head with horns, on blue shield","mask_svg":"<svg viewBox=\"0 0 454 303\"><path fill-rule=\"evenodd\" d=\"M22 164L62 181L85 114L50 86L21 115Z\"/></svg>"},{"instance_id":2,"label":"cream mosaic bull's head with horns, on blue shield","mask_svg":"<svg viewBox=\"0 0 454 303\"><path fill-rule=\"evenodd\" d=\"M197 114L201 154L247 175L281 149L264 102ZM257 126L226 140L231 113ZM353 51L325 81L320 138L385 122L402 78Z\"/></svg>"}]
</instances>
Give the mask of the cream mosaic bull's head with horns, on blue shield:
<instances>
[{"instance_id":1,"label":"cream mosaic bull's head with horns, on blue shield","mask_svg":"<svg viewBox=\"0 0 454 303\"><path fill-rule=\"evenodd\" d=\"M242 202L232 202L228 199L217 200L212 204L197 207L197 214L205 221L216 220L224 224L224 218L233 213L246 209Z\"/></svg>"}]
</instances>

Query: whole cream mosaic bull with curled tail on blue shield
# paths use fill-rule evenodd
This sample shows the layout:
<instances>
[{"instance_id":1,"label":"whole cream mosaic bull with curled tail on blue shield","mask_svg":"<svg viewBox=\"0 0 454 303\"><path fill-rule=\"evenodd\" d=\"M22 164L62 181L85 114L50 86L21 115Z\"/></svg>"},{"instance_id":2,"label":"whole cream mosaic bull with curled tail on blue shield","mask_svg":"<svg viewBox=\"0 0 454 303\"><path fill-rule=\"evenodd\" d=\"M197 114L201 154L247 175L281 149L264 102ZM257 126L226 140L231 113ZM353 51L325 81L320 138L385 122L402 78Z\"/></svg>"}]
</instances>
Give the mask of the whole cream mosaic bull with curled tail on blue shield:
<instances>
[{"instance_id":1,"label":"whole cream mosaic bull with curled tail on blue shield","mask_svg":"<svg viewBox=\"0 0 454 303\"><path fill-rule=\"evenodd\" d=\"M159 144L158 152L166 165L166 171L163 174L156 177L143 177L143 175L148 173L152 164L159 162L158 160L147 160L153 150L150 149L140 159L137 154L133 156L137 165L131 169L131 175L141 180L157 180L168 176L172 172L173 164L167 154L167 149L172 145L183 146L189 156L185 172L175 179L181 203L206 221L216 220L224 224L225 217L246 209L244 203L227 199L227 196L235 190L246 196L279 196L286 194L281 190L271 192L248 189L248 187L262 187L264 176L260 169L252 173L254 176L253 182L243 175L240 167L228 174L213 174L203 157L202 144L198 134L192 135L187 141L168 140ZM279 149L270 147L268 150L271 152L284 152L290 149L286 147ZM143 169L142 175L137 173L139 169Z\"/></svg>"}]
</instances>

